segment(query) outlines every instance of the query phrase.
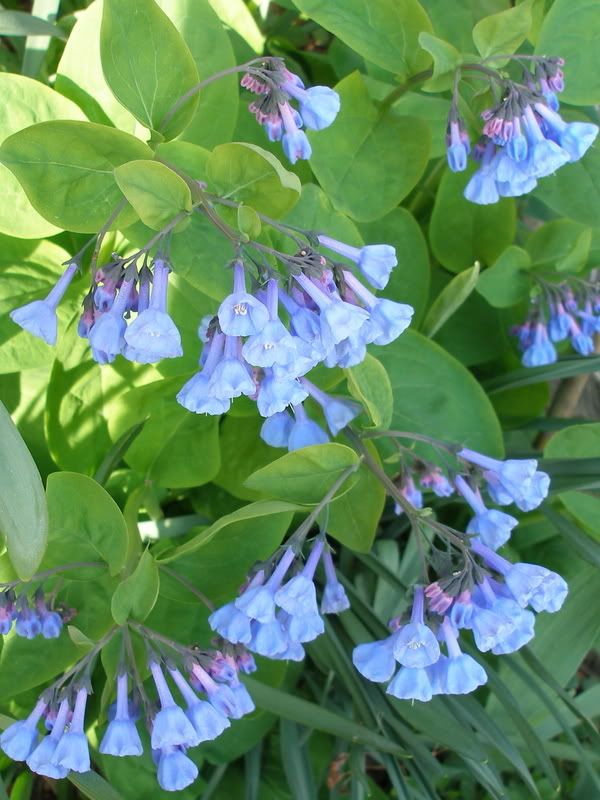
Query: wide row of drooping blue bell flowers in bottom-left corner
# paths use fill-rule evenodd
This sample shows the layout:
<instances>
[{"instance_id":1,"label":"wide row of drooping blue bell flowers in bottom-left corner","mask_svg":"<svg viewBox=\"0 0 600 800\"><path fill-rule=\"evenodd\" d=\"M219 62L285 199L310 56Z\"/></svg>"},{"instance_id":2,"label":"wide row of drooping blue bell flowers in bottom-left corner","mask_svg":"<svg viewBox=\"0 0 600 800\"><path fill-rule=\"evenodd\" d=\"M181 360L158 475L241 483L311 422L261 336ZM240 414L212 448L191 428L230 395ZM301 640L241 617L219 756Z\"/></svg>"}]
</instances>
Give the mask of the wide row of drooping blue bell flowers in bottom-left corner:
<instances>
[{"instance_id":1,"label":"wide row of drooping blue bell flowers in bottom-left corner","mask_svg":"<svg viewBox=\"0 0 600 800\"><path fill-rule=\"evenodd\" d=\"M10 758L26 761L32 772L49 778L89 771L90 750L84 718L91 693L90 663L88 660L75 670L80 677L70 686L63 685L65 676L46 690L26 719L14 722L4 731L0 747ZM163 667L185 707L175 701ZM239 680L239 672L252 672L256 666L244 648L228 645L223 652L198 651L190 656L186 660L187 677L170 659L162 659L154 652L150 654L148 668L157 703L150 701L141 687L135 697L129 694L128 670L121 664L116 678L116 702L109 709L109 722L99 751L118 757L142 755L144 748L136 726L141 699L158 782L165 791L178 791L198 776L197 766L186 755L187 749L216 739L229 727L231 719L240 719L254 710L254 703ZM47 731L44 736L39 732L42 720Z\"/></svg>"}]
</instances>

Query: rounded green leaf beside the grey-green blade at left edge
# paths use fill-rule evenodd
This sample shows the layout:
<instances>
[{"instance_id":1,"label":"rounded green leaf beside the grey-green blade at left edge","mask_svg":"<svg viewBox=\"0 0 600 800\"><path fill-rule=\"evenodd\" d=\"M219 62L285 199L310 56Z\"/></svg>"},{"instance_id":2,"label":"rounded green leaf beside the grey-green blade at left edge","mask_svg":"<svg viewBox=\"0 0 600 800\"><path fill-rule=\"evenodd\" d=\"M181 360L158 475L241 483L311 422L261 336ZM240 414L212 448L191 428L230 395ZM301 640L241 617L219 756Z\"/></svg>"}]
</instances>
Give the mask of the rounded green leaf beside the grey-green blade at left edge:
<instances>
[{"instance_id":1,"label":"rounded green leaf beside the grey-green blade at left edge","mask_svg":"<svg viewBox=\"0 0 600 800\"><path fill-rule=\"evenodd\" d=\"M101 558L111 575L120 572L127 558L127 525L108 492L85 475L54 472L48 477L46 494L49 547L45 568ZM82 568L81 574L97 575L98 570Z\"/></svg>"}]
</instances>

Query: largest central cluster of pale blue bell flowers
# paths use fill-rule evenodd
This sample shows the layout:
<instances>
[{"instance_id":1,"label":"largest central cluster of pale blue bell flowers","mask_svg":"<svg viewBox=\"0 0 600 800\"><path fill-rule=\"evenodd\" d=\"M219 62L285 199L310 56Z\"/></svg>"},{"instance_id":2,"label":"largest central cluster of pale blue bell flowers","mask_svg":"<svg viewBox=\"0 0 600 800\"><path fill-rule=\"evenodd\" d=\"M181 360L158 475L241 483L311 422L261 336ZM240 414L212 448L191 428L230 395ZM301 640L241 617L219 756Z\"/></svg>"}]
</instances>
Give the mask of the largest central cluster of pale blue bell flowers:
<instances>
[{"instance_id":1,"label":"largest central cluster of pale blue bell flowers","mask_svg":"<svg viewBox=\"0 0 600 800\"><path fill-rule=\"evenodd\" d=\"M383 285L396 263L393 248L386 246L367 246L356 253L330 239L325 246L343 249L344 255L357 260L359 269L376 273ZM216 318L202 328L201 370L183 386L177 400L197 414L223 414L235 397L246 395L269 418L291 406L295 422L288 414L270 419L263 438L293 449L327 440L304 412L302 402L309 395L324 409L332 435L358 411L353 404L333 401L319 391L305 379L306 373L320 362L328 367L360 363L367 344L388 344L408 327L413 309L376 297L342 265L328 269L327 260L312 250L302 250L290 260L294 271L287 291L270 277L254 293L247 290L244 262L234 262L233 291Z\"/></svg>"}]
</instances>

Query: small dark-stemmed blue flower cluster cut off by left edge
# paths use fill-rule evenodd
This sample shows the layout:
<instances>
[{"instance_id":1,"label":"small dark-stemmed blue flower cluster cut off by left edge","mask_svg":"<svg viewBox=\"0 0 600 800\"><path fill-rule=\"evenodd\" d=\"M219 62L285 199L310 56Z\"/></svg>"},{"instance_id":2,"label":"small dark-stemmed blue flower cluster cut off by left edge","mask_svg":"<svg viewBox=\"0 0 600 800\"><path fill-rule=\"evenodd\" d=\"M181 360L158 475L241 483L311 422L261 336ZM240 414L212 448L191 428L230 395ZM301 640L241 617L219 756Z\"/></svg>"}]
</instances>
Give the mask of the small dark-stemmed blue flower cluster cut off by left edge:
<instances>
[{"instance_id":1,"label":"small dark-stemmed blue flower cluster cut off by left edge","mask_svg":"<svg viewBox=\"0 0 600 800\"><path fill-rule=\"evenodd\" d=\"M0 592L0 634L6 636L13 628L17 636L24 639L57 639L63 628L64 616L69 614L62 609L50 607L41 589L35 593L33 604L25 593L17 597L13 589ZM69 617L70 618L70 617Z\"/></svg>"}]
</instances>

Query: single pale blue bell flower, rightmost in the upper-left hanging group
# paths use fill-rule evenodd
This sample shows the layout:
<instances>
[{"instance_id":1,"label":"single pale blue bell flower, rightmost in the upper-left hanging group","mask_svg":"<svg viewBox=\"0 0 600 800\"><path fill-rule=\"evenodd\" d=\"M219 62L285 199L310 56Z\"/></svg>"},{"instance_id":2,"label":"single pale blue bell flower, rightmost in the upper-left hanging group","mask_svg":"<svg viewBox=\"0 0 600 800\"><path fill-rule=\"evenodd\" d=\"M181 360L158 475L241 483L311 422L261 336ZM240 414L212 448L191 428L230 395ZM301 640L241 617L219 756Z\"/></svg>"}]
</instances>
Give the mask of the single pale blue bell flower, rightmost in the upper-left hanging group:
<instances>
[{"instance_id":1,"label":"single pale blue bell flower, rightmost in the upper-left hanging group","mask_svg":"<svg viewBox=\"0 0 600 800\"><path fill-rule=\"evenodd\" d=\"M150 304L138 313L125 331L124 356L138 364L154 364L163 358L183 355L181 336L167 312L167 285L171 269L159 257L154 260L153 268Z\"/></svg>"}]
</instances>

